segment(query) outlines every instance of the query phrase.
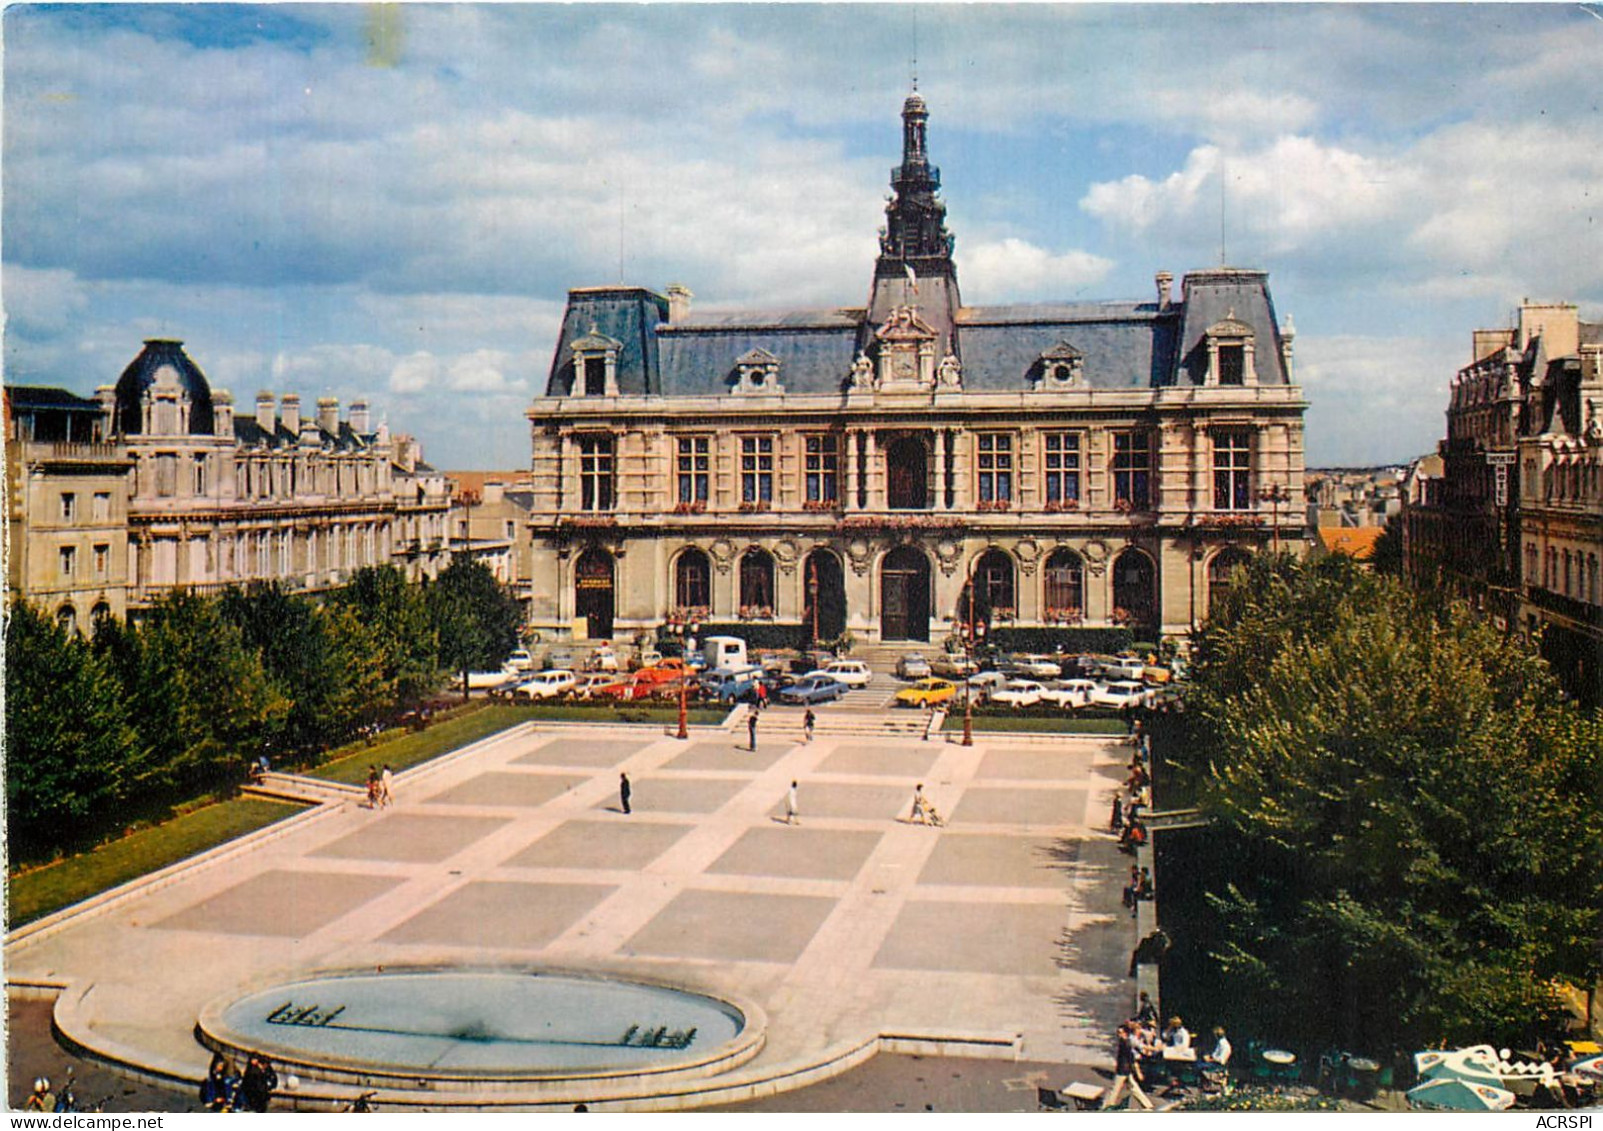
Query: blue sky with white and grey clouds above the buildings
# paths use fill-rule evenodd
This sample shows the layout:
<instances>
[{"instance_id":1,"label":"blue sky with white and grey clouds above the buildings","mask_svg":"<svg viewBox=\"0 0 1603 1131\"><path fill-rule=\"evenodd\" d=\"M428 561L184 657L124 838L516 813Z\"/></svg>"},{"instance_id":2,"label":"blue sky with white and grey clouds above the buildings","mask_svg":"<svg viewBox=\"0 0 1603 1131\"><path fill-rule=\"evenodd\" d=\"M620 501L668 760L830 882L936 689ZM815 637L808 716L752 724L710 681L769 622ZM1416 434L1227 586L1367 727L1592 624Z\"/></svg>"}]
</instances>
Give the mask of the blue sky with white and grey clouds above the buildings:
<instances>
[{"instance_id":1,"label":"blue sky with white and grey clouds above the buildings","mask_svg":"<svg viewBox=\"0 0 1603 1131\"><path fill-rule=\"evenodd\" d=\"M569 287L864 301L915 24L965 301L1223 244L1311 466L1430 450L1523 296L1603 320L1603 5L14 5L6 380L175 336L240 404L523 466Z\"/></svg>"}]
</instances>

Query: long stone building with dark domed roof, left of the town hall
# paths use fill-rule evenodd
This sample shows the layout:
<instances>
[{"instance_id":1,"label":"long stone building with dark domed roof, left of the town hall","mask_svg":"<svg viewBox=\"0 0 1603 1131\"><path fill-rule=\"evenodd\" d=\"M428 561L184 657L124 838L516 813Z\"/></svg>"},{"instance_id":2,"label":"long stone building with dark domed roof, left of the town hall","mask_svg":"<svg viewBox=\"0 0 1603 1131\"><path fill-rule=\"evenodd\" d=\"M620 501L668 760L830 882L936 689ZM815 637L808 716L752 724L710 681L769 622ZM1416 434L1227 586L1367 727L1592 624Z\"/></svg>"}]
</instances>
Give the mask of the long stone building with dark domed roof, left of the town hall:
<instances>
[{"instance_id":1,"label":"long stone building with dark domed roof, left of the town hall","mask_svg":"<svg viewBox=\"0 0 1603 1131\"><path fill-rule=\"evenodd\" d=\"M6 410L19 441L8 445L8 580L79 628L176 588L317 591L393 554L414 575L449 561L444 477L415 442L372 429L365 402L340 420L332 397L303 415L298 396L261 392L240 417L181 343L151 340L93 400L10 386ZM401 498L406 521L441 541L420 566L396 546Z\"/></svg>"}]
</instances>

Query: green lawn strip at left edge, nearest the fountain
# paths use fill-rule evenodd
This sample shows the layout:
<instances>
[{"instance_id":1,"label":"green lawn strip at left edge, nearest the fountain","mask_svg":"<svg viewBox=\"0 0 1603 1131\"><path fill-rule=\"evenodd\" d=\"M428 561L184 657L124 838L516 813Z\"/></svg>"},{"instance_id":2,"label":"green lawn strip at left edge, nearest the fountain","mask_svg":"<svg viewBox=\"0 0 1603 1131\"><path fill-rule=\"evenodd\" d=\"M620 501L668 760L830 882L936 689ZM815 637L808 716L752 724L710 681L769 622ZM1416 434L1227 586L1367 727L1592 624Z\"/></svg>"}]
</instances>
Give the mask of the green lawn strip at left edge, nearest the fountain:
<instances>
[{"instance_id":1,"label":"green lawn strip at left edge, nearest the fountain","mask_svg":"<svg viewBox=\"0 0 1603 1131\"><path fill-rule=\"evenodd\" d=\"M221 801L101 844L90 852L13 876L6 886L6 926L32 923L297 812L301 812L301 806L279 801L256 798Z\"/></svg>"}]
</instances>

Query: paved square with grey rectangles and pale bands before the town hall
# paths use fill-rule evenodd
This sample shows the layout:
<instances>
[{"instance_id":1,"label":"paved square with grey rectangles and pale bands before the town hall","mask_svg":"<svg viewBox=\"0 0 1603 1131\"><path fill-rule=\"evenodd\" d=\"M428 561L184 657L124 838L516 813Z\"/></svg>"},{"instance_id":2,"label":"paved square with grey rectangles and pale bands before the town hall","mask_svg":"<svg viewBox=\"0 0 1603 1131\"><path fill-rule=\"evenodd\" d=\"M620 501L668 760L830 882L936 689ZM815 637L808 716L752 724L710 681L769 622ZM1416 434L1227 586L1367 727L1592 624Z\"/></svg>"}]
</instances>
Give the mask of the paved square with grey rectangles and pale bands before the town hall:
<instances>
[{"instance_id":1,"label":"paved square with grey rectangles and pale bands before the town hall","mask_svg":"<svg viewBox=\"0 0 1603 1131\"><path fill-rule=\"evenodd\" d=\"M755 755L744 727L680 742L523 726L402 774L390 809L329 806L24 929L8 979L66 987L71 1040L194 1078L208 1001L442 963L753 1003L766 1043L739 1080L877 1036L1013 1040L1021 1061L1101 1064L1133 987L1127 860L1104 831L1122 750L984 734L967 748L800 743L790 722L771 710ZM919 782L944 828L907 820Z\"/></svg>"}]
</instances>

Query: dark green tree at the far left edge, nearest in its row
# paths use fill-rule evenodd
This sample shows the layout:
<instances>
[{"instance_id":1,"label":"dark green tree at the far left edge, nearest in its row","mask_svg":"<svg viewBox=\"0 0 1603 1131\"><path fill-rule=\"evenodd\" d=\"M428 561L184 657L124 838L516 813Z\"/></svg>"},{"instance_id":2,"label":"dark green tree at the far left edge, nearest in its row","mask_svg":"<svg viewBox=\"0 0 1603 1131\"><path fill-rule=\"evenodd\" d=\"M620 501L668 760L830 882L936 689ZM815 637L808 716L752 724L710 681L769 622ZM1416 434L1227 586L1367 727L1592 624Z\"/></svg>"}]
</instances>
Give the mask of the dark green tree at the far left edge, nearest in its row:
<instances>
[{"instance_id":1,"label":"dark green tree at the far left edge, nearest in its row","mask_svg":"<svg viewBox=\"0 0 1603 1131\"><path fill-rule=\"evenodd\" d=\"M111 671L88 644L26 604L5 641L6 828L13 860L93 836L127 793L139 735Z\"/></svg>"}]
</instances>

